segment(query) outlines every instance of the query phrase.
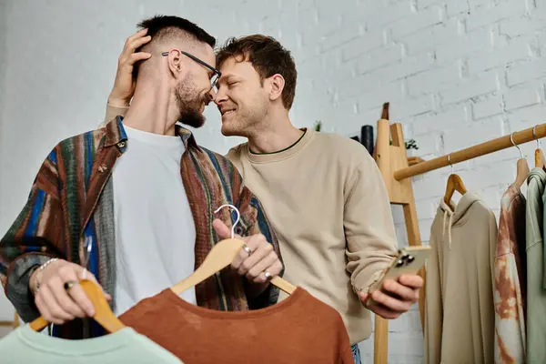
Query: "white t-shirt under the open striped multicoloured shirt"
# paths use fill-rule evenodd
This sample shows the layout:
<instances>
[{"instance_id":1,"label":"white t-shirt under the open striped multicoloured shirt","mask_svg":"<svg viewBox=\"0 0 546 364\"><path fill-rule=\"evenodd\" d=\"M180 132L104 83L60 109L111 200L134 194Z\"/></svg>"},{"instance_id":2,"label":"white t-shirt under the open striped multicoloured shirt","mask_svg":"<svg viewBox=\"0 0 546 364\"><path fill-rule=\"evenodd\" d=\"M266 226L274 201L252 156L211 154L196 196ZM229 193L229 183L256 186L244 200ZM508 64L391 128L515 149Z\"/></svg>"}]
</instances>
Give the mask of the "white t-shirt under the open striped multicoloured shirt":
<instances>
[{"instance_id":1,"label":"white t-shirt under the open striped multicoloured shirt","mask_svg":"<svg viewBox=\"0 0 546 364\"><path fill-rule=\"evenodd\" d=\"M116 315L195 270L196 228L180 176L184 143L124 127L126 151L113 169ZM195 289L181 298L195 304Z\"/></svg>"}]
</instances>

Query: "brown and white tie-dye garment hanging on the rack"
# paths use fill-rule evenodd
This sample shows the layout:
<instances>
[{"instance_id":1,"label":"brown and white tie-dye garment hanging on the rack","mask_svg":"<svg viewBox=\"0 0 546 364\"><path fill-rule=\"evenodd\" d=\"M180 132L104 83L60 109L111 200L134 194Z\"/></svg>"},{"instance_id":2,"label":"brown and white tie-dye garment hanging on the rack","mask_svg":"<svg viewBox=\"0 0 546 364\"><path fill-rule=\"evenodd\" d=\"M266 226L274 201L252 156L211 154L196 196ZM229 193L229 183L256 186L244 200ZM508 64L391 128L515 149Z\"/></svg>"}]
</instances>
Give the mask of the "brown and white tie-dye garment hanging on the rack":
<instances>
[{"instance_id":1,"label":"brown and white tie-dye garment hanging on the rack","mask_svg":"<svg viewBox=\"0 0 546 364\"><path fill-rule=\"evenodd\" d=\"M501 198L493 265L495 363L525 362L525 197L511 185Z\"/></svg>"}]
</instances>

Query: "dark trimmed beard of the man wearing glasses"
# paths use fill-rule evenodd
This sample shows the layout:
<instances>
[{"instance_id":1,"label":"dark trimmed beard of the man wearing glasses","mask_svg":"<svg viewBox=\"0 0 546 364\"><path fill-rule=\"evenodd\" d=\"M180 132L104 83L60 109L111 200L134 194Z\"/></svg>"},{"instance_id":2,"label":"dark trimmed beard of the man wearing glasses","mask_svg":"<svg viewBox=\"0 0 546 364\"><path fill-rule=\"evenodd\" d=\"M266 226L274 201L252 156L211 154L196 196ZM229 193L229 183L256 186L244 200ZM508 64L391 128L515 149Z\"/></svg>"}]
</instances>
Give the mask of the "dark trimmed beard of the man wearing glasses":
<instances>
[{"instance_id":1,"label":"dark trimmed beard of the man wearing glasses","mask_svg":"<svg viewBox=\"0 0 546 364\"><path fill-rule=\"evenodd\" d=\"M208 104L209 96L199 95L193 77L187 75L175 88L179 122L192 127L201 127L205 124L205 116L201 113L201 106Z\"/></svg>"}]
</instances>

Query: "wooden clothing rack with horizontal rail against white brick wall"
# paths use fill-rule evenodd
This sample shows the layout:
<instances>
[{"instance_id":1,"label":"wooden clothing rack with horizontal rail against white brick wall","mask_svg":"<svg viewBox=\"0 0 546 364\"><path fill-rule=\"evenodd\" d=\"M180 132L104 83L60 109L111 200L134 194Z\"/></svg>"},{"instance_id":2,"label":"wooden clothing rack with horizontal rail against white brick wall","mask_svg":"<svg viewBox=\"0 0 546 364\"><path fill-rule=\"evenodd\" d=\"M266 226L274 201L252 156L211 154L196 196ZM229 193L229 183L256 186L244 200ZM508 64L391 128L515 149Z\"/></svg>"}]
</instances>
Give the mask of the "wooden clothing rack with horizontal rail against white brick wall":
<instances>
[{"instance_id":1,"label":"wooden clothing rack with horizontal rail against white brick wall","mask_svg":"<svg viewBox=\"0 0 546 364\"><path fill-rule=\"evenodd\" d=\"M532 140L540 139L544 136L546 136L546 124L540 124L514 132L508 136L501 136L473 147L467 147L441 157L435 157L410 167L406 155L406 144L404 142L402 125L400 123L390 124L389 103L385 103L383 105L381 118L378 120L377 142L374 157L378 164L381 176L385 181L390 203L393 205L401 205L403 208L410 246L414 247L421 245L417 210L415 208L415 197L413 195L410 177L418 176L441 167L448 167L476 157L485 156L502 149L514 147L514 144L521 145ZM511 137L514 144L512 144ZM424 266L420 269L419 274L423 280L426 278ZM420 322L421 328L423 329L425 319L425 286L426 280L425 284L420 289L419 297ZM388 330L388 320L382 319L376 315L374 332L375 364L387 363L389 348Z\"/></svg>"}]
</instances>

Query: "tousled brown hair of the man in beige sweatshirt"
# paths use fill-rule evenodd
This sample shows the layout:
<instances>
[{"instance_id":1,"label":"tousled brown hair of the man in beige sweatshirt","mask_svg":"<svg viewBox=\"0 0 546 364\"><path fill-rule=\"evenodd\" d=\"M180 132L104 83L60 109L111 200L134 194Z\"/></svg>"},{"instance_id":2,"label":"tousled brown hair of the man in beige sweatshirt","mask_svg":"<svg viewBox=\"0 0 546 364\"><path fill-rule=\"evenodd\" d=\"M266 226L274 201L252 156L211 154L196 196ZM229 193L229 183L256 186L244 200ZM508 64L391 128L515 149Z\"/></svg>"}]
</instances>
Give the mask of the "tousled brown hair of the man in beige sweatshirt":
<instances>
[{"instance_id":1,"label":"tousled brown hair of the man in beige sweatshirt","mask_svg":"<svg viewBox=\"0 0 546 364\"><path fill-rule=\"evenodd\" d=\"M290 51L275 38L266 35L229 38L217 52L217 68L231 57L250 62L262 81L276 74L283 76L285 86L282 90L282 103L288 110L292 107L298 72Z\"/></svg>"}]
</instances>

